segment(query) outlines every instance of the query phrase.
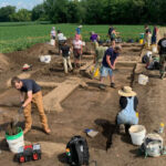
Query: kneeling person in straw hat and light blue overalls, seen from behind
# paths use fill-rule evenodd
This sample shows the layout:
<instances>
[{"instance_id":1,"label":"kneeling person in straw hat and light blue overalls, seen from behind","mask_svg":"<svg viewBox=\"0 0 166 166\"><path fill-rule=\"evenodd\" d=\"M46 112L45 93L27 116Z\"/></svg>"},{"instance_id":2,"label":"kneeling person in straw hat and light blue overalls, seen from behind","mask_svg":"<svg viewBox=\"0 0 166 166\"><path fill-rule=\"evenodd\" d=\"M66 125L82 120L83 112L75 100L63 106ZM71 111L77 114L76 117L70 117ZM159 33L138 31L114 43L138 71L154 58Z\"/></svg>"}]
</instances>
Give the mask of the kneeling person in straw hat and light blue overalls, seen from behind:
<instances>
[{"instance_id":1,"label":"kneeling person in straw hat and light blue overalls, seen from behind","mask_svg":"<svg viewBox=\"0 0 166 166\"><path fill-rule=\"evenodd\" d=\"M121 131L128 133L131 125L138 124L138 113L136 111L138 98L136 93L129 86L124 86L118 91L120 106L122 111L117 114L116 124Z\"/></svg>"}]
</instances>

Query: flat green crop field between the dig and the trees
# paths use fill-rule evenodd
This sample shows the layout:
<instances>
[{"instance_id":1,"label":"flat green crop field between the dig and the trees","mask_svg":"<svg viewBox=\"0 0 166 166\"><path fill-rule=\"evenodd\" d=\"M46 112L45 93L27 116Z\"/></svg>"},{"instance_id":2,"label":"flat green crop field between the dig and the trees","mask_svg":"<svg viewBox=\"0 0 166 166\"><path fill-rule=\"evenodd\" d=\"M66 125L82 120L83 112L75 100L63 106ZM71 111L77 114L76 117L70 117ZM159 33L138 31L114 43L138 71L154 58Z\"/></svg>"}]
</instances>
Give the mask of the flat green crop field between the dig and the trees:
<instances>
[{"instance_id":1,"label":"flat green crop field between the dig and the trees","mask_svg":"<svg viewBox=\"0 0 166 166\"><path fill-rule=\"evenodd\" d=\"M7 53L30 48L34 43L48 42L50 40L51 28L61 30L66 38L73 38L77 24L46 24L46 23L0 23L0 52ZM123 41L139 38L144 32L143 25L114 25L120 32ZM108 25L83 25L82 35L84 41L89 41L90 32L100 34L102 40L107 40Z\"/></svg>"}]
</instances>

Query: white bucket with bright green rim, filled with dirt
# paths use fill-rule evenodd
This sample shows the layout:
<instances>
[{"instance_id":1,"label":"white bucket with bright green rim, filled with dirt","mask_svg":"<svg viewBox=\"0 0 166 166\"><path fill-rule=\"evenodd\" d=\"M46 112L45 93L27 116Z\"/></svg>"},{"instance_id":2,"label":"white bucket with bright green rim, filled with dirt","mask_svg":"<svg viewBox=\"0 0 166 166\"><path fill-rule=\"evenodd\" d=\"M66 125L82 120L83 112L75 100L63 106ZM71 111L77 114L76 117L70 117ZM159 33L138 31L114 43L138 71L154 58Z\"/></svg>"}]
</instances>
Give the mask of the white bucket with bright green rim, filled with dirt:
<instances>
[{"instance_id":1,"label":"white bucket with bright green rim, filled with dirt","mask_svg":"<svg viewBox=\"0 0 166 166\"><path fill-rule=\"evenodd\" d=\"M21 146L24 146L23 132L19 128L20 133L17 135L8 135L6 134L7 143L12 153L18 153Z\"/></svg>"}]
</instances>

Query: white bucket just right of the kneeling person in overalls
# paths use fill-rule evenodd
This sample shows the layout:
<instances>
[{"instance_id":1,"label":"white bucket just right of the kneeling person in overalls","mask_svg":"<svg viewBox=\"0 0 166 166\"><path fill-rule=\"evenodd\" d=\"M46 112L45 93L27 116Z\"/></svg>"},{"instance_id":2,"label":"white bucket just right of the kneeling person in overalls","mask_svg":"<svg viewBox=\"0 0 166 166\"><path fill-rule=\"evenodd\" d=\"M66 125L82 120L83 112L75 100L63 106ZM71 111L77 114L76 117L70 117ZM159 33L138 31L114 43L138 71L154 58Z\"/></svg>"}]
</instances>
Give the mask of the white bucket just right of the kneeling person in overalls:
<instances>
[{"instance_id":1,"label":"white bucket just right of the kneeling person in overalls","mask_svg":"<svg viewBox=\"0 0 166 166\"><path fill-rule=\"evenodd\" d=\"M133 125L129 128L129 134L134 145L142 145L145 138L146 129L143 125Z\"/></svg>"}]
</instances>

